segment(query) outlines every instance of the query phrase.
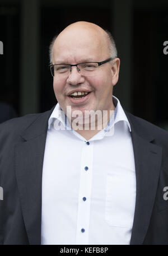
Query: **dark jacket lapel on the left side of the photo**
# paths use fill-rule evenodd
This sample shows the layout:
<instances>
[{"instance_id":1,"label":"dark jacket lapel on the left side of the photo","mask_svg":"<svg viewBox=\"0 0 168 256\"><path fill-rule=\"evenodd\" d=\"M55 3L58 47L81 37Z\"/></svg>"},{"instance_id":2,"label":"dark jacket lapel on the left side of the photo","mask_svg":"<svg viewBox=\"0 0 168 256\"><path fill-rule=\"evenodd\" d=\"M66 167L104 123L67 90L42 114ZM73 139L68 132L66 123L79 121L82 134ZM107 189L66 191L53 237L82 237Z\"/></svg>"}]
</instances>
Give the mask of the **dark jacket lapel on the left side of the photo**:
<instances>
[{"instance_id":1,"label":"dark jacket lapel on the left side of the photo","mask_svg":"<svg viewBox=\"0 0 168 256\"><path fill-rule=\"evenodd\" d=\"M21 134L15 146L15 169L22 214L30 244L41 243L41 183L48 119L41 114Z\"/></svg>"}]
</instances>

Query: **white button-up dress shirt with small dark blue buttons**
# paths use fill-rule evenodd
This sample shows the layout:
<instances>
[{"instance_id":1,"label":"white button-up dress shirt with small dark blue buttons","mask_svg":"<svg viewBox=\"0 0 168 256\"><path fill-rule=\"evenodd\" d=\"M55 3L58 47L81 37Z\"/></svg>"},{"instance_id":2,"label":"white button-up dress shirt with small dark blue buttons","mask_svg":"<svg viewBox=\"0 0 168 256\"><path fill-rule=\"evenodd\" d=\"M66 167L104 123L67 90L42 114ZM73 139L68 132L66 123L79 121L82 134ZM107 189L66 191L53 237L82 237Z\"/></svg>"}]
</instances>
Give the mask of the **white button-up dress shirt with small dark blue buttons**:
<instances>
[{"instance_id":1,"label":"white button-up dress shirt with small dark blue buttons","mask_svg":"<svg viewBox=\"0 0 168 256\"><path fill-rule=\"evenodd\" d=\"M134 153L128 119L114 96L113 102L109 124L89 141L71 128L64 113L58 115L59 104L55 106L43 162L41 244L130 243ZM55 121L65 129L55 129Z\"/></svg>"}]
</instances>

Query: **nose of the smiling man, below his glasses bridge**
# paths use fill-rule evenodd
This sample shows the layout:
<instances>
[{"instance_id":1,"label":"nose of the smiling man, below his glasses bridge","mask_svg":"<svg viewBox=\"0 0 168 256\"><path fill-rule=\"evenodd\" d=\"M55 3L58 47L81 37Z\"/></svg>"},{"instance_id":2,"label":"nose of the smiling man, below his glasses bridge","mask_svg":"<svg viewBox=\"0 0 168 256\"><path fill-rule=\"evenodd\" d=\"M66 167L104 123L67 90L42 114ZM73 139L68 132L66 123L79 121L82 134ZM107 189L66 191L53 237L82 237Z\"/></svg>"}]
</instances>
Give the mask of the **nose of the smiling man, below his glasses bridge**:
<instances>
[{"instance_id":1,"label":"nose of the smiling man, below his glasses bridge","mask_svg":"<svg viewBox=\"0 0 168 256\"><path fill-rule=\"evenodd\" d=\"M67 83L71 85L78 85L79 83L83 83L85 81L85 77L78 72L77 67L71 67L71 72L67 78Z\"/></svg>"}]
</instances>

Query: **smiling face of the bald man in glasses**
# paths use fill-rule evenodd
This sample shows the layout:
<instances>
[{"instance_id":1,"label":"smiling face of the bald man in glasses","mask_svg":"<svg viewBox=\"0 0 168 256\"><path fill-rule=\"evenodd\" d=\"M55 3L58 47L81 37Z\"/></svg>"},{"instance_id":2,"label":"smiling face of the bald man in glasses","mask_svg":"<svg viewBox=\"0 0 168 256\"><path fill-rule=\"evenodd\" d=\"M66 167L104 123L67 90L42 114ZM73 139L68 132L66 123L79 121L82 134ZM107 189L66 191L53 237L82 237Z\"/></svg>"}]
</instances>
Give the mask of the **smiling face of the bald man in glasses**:
<instances>
[{"instance_id":1,"label":"smiling face of the bald man in glasses","mask_svg":"<svg viewBox=\"0 0 168 256\"><path fill-rule=\"evenodd\" d=\"M110 58L105 31L95 24L76 22L57 37L53 45L53 64L77 64L101 62ZM66 113L81 110L114 110L113 86L118 81L119 59L102 64L95 75L82 76L72 67L68 76L54 76L53 87L60 108ZM90 94L77 102L69 94L73 91L89 91ZM73 119L73 118L72 118Z\"/></svg>"}]
</instances>

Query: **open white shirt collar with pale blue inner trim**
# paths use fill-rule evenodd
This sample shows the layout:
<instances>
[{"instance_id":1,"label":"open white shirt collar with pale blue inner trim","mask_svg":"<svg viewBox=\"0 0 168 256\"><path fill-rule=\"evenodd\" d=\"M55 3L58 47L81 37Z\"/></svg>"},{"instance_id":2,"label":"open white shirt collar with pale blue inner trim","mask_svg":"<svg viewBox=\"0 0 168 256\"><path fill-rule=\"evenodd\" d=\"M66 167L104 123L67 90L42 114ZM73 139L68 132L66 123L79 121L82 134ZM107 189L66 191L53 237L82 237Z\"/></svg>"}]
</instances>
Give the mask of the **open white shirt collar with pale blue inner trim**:
<instances>
[{"instance_id":1,"label":"open white shirt collar with pale blue inner trim","mask_svg":"<svg viewBox=\"0 0 168 256\"><path fill-rule=\"evenodd\" d=\"M122 105L117 97L113 96L113 103L115 106L115 110L113 115L111 116L108 125L104 128L105 136L111 136L114 134L114 125L120 121L127 123L129 131L131 132L129 121L124 113ZM71 130L71 124L68 121L68 118L64 114L63 110L60 108L59 103L55 106L50 118L48 120L48 129L51 128L54 120L58 119L60 123L63 125L64 129Z\"/></svg>"}]
</instances>

